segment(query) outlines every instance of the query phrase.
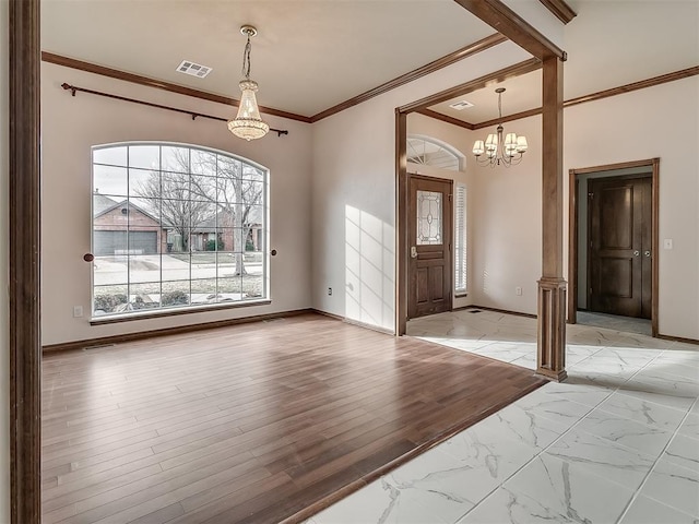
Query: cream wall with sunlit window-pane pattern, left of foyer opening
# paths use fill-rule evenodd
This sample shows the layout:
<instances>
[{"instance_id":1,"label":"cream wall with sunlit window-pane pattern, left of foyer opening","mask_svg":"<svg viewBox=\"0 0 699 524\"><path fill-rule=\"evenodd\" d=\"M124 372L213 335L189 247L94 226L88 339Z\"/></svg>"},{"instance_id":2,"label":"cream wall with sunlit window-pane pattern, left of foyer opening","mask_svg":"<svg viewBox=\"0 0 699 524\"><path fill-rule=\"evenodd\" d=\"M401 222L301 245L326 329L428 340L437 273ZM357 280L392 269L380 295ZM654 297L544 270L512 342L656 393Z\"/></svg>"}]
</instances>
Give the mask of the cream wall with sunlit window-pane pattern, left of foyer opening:
<instances>
[{"instance_id":1,"label":"cream wall with sunlit window-pane pattern, left of foyer opening","mask_svg":"<svg viewBox=\"0 0 699 524\"><path fill-rule=\"evenodd\" d=\"M313 124L315 308L394 329L394 109L526 58L505 43Z\"/></svg>"}]
</instances>

